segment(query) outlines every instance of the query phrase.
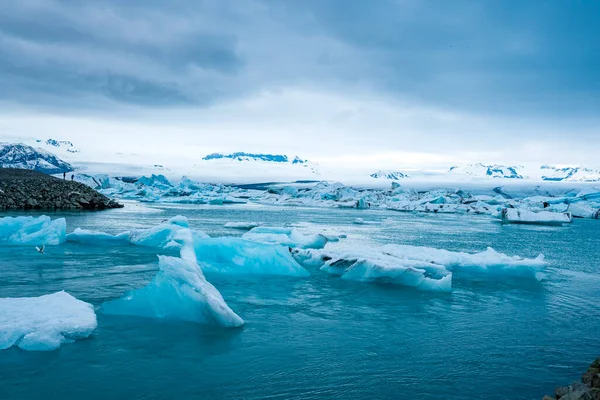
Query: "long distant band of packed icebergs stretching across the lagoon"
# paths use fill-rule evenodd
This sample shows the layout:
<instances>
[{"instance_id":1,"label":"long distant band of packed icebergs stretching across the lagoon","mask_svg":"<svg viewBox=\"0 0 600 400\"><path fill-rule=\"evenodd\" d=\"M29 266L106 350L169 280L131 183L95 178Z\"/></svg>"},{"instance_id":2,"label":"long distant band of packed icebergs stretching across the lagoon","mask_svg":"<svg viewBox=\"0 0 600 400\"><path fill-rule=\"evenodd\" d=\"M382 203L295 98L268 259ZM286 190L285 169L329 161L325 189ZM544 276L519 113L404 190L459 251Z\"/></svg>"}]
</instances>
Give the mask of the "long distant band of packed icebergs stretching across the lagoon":
<instances>
[{"instance_id":1,"label":"long distant band of packed icebergs stretching across the lagoon","mask_svg":"<svg viewBox=\"0 0 600 400\"><path fill-rule=\"evenodd\" d=\"M574 217L600 216L600 188L581 192L540 193L525 197L498 186L492 195L473 195L466 190L435 189L417 191L392 182L389 189L365 190L341 183L318 182L311 185L278 185L268 190L240 189L234 186L210 185L182 178L170 182L162 175L142 177L136 182L108 176L77 175L76 179L97 188L103 194L122 199L158 203L189 203L224 205L260 203L285 206L338 207L348 209L379 208L401 212L487 214L496 216L503 208L526 209L533 212L569 212ZM515 178L519 179L519 178ZM575 205L577 204L577 205Z\"/></svg>"}]
</instances>

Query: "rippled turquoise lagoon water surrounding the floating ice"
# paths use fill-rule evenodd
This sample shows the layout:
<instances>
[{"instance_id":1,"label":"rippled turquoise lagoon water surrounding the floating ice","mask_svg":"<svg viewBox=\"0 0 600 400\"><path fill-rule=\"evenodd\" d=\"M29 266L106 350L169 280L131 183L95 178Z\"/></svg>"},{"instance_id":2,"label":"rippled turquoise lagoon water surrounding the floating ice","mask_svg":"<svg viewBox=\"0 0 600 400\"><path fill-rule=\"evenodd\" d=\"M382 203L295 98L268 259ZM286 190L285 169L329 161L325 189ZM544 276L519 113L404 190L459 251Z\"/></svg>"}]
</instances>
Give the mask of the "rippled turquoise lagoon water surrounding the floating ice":
<instances>
[{"instance_id":1,"label":"rippled turquoise lagoon water surrounding the floating ice","mask_svg":"<svg viewBox=\"0 0 600 400\"><path fill-rule=\"evenodd\" d=\"M228 221L301 224L348 242L542 252L547 279L455 281L452 293L309 278L207 275L246 322L226 330L98 313L87 340L0 352L0 399L540 399L600 354L600 223L503 226L487 217L379 211L129 204L55 214L117 233L182 214L212 236ZM8 214L5 214L8 215ZM13 214L14 215L14 214ZM361 217L372 225L354 225ZM148 283L156 250L0 247L0 297L67 290L100 305Z\"/></svg>"}]
</instances>

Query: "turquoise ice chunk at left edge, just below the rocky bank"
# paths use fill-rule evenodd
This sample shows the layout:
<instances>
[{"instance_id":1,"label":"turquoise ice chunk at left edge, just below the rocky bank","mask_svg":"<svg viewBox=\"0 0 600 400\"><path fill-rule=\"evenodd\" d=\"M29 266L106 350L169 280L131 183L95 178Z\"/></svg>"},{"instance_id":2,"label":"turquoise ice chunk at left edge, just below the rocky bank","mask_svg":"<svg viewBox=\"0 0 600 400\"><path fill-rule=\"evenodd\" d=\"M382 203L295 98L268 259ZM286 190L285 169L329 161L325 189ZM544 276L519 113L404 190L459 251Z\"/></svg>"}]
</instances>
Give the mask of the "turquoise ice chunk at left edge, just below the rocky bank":
<instances>
[{"instance_id":1,"label":"turquoise ice chunk at left edge, just below the rocky bank","mask_svg":"<svg viewBox=\"0 0 600 400\"><path fill-rule=\"evenodd\" d=\"M64 218L4 217L0 218L0 244L59 245L67 238Z\"/></svg>"}]
</instances>

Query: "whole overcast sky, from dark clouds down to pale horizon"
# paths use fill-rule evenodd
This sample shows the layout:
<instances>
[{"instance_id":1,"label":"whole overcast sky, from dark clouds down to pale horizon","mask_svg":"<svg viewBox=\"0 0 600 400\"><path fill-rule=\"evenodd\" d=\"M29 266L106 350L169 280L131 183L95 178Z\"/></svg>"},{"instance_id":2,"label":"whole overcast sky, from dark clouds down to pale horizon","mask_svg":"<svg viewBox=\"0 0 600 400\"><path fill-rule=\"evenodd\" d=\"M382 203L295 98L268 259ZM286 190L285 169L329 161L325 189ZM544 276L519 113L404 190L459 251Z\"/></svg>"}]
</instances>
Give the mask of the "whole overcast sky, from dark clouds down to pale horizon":
<instances>
[{"instance_id":1,"label":"whole overcast sky, from dark clouds down to pale horizon","mask_svg":"<svg viewBox=\"0 0 600 400\"><path fill-rule=\"evenodd\" d=\"M600 167L599 1L0 4L3 138Z\"/></svg>"}]
</instances>

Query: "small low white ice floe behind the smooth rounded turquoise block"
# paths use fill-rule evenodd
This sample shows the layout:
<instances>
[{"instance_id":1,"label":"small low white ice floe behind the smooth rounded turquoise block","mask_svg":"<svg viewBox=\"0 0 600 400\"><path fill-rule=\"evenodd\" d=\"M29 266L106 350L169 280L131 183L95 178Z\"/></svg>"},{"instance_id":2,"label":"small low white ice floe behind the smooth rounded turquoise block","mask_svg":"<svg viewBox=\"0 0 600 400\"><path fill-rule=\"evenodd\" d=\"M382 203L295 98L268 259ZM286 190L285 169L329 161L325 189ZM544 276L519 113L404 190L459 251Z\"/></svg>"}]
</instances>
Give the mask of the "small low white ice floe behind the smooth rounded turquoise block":
<instances>
[{"instance_id":1,"label":"small low white ice floe behind the smooth rounded turquoise block","mask_svg":"<svg viewBox=\"0 0 600 400\"><path fill-rule=\"evenodd\" d=\"M257 227L246 232L242 237L254 242L280 244L300 249L322 249L327 244L327 237L324 235L307 235L292 228Z\"/></svg>"}]
</instances>

